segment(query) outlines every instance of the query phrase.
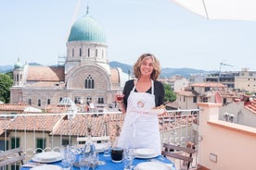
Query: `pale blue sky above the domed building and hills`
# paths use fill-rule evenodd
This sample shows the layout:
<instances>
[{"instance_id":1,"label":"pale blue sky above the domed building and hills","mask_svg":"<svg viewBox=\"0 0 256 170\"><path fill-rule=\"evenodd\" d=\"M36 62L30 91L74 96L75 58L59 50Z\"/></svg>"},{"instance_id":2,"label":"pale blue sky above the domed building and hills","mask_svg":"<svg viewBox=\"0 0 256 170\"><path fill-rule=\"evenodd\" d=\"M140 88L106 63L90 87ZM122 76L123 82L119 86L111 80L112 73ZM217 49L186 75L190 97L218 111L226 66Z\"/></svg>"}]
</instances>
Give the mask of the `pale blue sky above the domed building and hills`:
<instances>
[{"instance_id":1,"label":"pale blue sky above the domed building and hills","mask_svg":"<svg viewBox=\"0 0 256 170\"><path fill-rule=\"evenodd\" d=\"M256 71L256 22L208 20L171 0L4 0L0 66L57 65L72 23L89 15L104 28L108 59L128 65L144 53L161 67ZM230 66L220 66L224 63Z\"/></svg>"}]
</instances>

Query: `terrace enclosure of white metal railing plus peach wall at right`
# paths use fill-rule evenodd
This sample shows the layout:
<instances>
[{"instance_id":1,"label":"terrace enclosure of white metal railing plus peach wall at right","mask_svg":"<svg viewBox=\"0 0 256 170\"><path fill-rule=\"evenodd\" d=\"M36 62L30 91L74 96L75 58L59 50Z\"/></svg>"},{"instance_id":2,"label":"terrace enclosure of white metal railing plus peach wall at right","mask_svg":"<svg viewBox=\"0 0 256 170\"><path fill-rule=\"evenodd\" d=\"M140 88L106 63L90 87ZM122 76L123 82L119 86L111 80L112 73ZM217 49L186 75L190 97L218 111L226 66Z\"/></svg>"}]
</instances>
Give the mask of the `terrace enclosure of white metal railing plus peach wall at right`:
<instances>
[{"instance_id":1,"label":"terrace enclosure of white metal railing plus peach wall at right","mask_svg":"<svg viewBox=\"0 0 256 170\"><path fill-rule=\"evenodd\" d=\"M168 111L159 116L162 142L184 146L196 143L192 164L209 169L256 169L256 128L218 120L219 103L198 103L200 109ZM22 147L26 161L36 152L58 150L62 145L77 145L77 138L109 136L114 142L116 128L122 128L119 112L1 115L0 150ZM175 161L174 161L175 162ZM175 162L176 163L176 162Z\"/></svg>"}]
</instances>

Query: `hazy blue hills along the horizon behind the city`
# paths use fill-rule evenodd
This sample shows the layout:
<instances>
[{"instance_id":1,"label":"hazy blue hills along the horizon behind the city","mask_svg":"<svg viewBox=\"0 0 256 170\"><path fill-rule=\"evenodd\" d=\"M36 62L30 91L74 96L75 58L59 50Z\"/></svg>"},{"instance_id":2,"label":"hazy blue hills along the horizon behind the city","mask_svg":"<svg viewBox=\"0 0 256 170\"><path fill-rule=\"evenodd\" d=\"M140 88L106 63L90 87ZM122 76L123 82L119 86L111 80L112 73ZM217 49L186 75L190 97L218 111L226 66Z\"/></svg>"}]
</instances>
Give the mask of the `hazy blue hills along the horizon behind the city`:
<instances>
[{"instance_id":1,"label":"hazy blue hills along the horizon behind the city","mask_svg":"<svg viewBox=\"0 0 256 170\"><path fill-rule=\"evenodd\" d=\"M41 66L38 63L30 63L29 65L31 66ZM109 62L109 66L110 67L120 67L122 68L122 72L124 73L128 73L133 72L133 67L132 65L126 65L117 61L111 61ZM13 70L13 66L0 66L0 73L7 73ZM210 74L210 73L214 73L217 71L205 71L205 70L201 70L201 69L194 69L194 68L187 68L187 67L183 67L183 68L170 68L170 67L165 67L161 69L161 74L160 74L160 78L170 78L174 75L180 75L183 76L185 78L189 78L189 76L191 74Z\"/></svg>"}]
</instances>

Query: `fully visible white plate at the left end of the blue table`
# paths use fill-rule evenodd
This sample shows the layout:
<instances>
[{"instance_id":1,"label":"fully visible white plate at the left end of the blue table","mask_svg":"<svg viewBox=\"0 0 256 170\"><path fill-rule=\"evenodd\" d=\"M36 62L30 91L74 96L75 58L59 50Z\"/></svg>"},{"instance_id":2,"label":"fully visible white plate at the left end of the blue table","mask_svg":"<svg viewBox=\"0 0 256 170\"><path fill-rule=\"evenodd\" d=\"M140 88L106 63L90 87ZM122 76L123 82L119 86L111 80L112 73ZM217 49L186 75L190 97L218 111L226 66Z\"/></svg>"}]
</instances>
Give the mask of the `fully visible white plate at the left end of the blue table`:
<instances>
[{"instance_id":1,"label":"fully visible white plate at the left end of the blue table","mask_svg":"<svg viewBox=\"0 0 256 170\"><path fill-rule=\"evenodd\" d=\"M60 152L40 152L32 157L32 161L38 163L54 163L62 159Z\"/></svg>"}]
</instances>

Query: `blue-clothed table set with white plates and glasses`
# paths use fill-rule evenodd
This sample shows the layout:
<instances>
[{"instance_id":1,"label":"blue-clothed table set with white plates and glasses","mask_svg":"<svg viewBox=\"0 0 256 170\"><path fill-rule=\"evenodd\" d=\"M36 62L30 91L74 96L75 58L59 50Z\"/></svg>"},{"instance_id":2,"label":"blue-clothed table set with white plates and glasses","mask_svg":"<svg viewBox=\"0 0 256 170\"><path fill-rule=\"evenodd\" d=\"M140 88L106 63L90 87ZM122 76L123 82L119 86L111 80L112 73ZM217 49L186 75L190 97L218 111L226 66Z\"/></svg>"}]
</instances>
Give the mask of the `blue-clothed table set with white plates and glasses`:
<instances>
[{"instance_id":1,"label":"blue-clothed table set with white plates and glasses","mask_svg":"<svg viewBox=\"0 0 256 170\"><path fill-rule=\"evenodd\" d=\"M102 147L102 145L101 145ZM80 151L80 152L79 152ZM174 164L154 150L106 147L85 156L82 149L68 147L62 152L41 152L21 170L175 170Z\"/></svg>"}]
</instances>

